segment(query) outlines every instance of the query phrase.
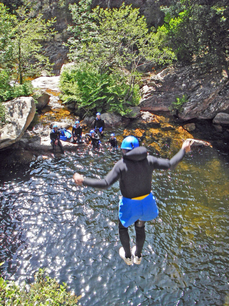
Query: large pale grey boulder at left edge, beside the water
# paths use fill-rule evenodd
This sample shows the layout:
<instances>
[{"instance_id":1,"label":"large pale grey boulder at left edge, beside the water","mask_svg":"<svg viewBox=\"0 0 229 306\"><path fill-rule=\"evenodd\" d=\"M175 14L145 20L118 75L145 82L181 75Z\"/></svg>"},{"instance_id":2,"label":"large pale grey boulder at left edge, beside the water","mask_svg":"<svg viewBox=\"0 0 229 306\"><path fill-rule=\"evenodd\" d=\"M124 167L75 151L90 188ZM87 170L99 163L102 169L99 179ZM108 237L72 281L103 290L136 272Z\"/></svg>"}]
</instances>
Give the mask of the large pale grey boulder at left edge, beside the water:
<instances>
[{"instance_id":1,"label":"large pale grey boulder at left edge, beside the water","mask_svg":"<svg viewBox=\"0 0 229 306\"><path fill-rule=\"evenodd\" d=\"M7 124L0 128L0 149L20 140L36 112L32 97L19 97L2 104L6 108Z\"/></svg>"}]
</instances>

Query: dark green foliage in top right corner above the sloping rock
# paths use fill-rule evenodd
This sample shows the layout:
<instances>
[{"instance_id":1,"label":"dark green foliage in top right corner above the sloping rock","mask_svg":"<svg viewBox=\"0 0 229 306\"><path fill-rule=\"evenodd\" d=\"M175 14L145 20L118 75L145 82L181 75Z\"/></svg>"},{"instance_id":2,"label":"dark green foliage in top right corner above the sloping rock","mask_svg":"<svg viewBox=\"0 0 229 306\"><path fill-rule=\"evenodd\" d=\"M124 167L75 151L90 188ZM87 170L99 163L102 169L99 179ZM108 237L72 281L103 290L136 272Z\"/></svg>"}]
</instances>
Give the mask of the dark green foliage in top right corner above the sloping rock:
<instances>
[{"instance_id":1,"label":"dark green foliage in top right corner above the sloping rock","mask_svg":"<svg viewBox=\"0 0 229 306\"><path fill-rule=\"evenodd\" d=\"M172 0L159 32L178 60L229 71L229 5L226 0Z\"/></svg>"}]
</instances>

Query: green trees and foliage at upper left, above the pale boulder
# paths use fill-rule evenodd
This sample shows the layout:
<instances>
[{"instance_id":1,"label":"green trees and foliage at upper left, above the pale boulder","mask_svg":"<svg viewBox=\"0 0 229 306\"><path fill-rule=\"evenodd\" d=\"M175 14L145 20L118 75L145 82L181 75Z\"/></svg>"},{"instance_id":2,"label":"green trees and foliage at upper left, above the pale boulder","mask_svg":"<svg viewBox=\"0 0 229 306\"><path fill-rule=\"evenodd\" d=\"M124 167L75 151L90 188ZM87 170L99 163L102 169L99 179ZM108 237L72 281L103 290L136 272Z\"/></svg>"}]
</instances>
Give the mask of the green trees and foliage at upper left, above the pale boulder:
<instances>
[{"instance_id":1,"label":"green trees and foliage at upper left, above the pale boulder","mask_svg":"<svg viewBox=\"0 0 229 306\"><path fill-rule=\"evenodd\" d=\"M42 19L32 6L10 14L0 3L0 101L31 94L31 83L24 79L39 75L41 69L50 71L41 41L53 35L53 22Z\"/></svg>"}]
</instances>

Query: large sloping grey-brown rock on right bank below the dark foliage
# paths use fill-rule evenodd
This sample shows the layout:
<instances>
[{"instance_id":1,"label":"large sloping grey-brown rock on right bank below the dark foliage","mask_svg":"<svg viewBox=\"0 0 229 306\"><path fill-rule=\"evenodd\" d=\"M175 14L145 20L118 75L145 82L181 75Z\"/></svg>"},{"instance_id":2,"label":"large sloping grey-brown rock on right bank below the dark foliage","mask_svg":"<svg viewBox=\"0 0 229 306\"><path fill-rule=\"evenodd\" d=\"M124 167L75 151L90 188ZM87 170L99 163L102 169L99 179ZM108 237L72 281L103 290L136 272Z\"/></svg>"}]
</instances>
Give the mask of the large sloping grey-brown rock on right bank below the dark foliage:
<instances>
[{"instance_id":1,"label":"large sloping grey-brown rock on right bank below the dark foliage","mask_svg":"<svg viewBox=\"0 0 229 306\"><path fill-rule=\"evenodd\" d=\"M204 73L197 66L169 67L148 78L140 107L142 111L169 111L176 98L187 96L178 116L182 120L213 119L229 113L229 80L225 72ZM147 89L147 90L146 90Z\"/></svg>"}]
</instances>

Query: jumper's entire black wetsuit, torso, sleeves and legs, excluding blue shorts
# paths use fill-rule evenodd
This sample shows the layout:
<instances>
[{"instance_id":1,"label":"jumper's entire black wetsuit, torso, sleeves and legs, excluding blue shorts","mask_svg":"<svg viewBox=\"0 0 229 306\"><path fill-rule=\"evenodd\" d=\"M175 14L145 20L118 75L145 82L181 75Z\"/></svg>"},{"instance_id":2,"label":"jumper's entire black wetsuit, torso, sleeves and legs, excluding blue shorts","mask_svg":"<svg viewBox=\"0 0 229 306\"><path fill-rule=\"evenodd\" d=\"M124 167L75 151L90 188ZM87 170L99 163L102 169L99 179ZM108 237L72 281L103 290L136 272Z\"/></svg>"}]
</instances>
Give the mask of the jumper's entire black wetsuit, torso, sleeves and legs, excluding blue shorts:
<instances>
[{"instance_id":1,"label":"jumper's entire black wetsuit, torso, sleeves and legs, excluding blue shorts","mask_svg":"<svg viewBox=\"0 0 229 306\"><path fill-rule=\"evenodd\" d=\"M145 147L138 147L127 152L113 169L102 180L84 177L83 185L100 189L107 189L119 180L120 191L123 197L133 199L151 193L152 173L154 169L173 169L182 160L185 149L181 149L170 160L156 158L147 154ZM136 231L136 252L141 257L145 242L145 221L134 222ZM130 237L128 227L124 227L119 219L119 237L125 251L126 258L131 258Z\"/></svg>"}]
</instances>

